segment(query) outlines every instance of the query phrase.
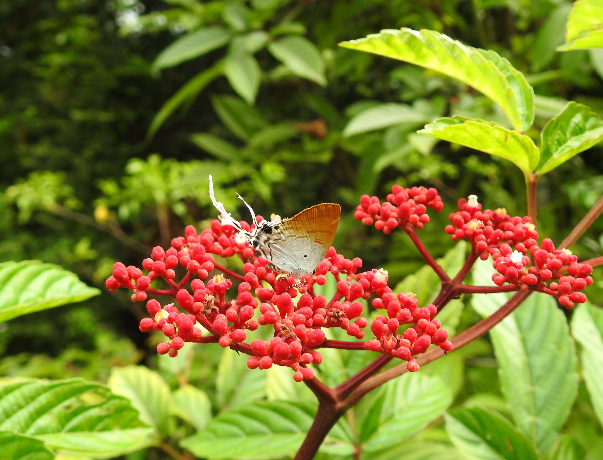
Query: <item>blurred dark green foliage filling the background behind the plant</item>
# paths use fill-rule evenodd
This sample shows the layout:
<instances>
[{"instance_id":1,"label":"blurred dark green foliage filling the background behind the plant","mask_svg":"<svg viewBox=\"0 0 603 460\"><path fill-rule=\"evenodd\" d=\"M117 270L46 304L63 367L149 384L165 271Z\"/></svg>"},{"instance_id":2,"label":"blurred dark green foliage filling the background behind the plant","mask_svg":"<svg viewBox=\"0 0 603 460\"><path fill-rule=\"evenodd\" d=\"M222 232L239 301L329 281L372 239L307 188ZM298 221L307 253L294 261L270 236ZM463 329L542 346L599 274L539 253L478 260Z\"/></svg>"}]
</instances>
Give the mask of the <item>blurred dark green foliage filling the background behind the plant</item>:
<instances>
[{"instance_id":1,"label":"blurred dark green foliage filling the background behind the plant","mask_svg":"<svg viewBox=\"0 0 603 460\"><path fill-rule=\"evenodd\" d=\"M423 262L401 232L386 237L353 219L360 195L383 196L394 183L437 187L446 207L421 238L440 257L452 248L442 230L459 197L476 194L485 207L523 215L525 185L505 160L416 134L446 115L508 127L490 99L337 43L410 27L493 49L534 87L535 125L526 134L537 139L568 100L603 115L601 50L555 51L569 10L563 0L0 0L0 262L58 263L103 288L116 260L139 263L185 225L215 216L212 174L219 200L241 216L235 191L263 215L341 203L336 247L367 269L384 266L395 285ZM601 196L601 158L599 145L541 178L541 235L560 241ZM601 221L572 249L601 254ZM590 288L593 303L602 288ZM157 357L155 338L138 332L137 306L103 292L86 306L0 324L0 376L105 382L111 366L142 362L172 388L203 388L214 412L235 408L215 385L232 357L217 347L195 347L184 364ZM456 329L476 320L465 309ZM510 416L490 342L471 347L451 360L456 373L440 370L458 377L455 402ZM253 382L245 371L233 375L264 385L266 376ZM596 458L601 426L583 384L565 430L567 449L577 440ZM440 426L415 437L427 444L446 435Z\"/></svg>"}]
</instances>

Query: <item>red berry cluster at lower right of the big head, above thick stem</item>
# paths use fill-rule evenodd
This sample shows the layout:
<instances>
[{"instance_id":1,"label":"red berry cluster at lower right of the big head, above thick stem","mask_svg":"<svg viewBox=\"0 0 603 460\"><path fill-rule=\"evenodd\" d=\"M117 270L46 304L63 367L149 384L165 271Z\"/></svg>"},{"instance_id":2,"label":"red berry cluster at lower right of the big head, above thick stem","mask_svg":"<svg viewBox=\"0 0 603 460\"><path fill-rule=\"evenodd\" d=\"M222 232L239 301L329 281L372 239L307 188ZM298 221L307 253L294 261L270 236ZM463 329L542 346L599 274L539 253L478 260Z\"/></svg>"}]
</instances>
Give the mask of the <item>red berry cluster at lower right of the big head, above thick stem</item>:
<instances>
[{"instance_id":1,"label":"red berry cluster at lower right of the big head, above thick stem","mask_svg":"<svg viewBox=\"0 0 603 460\"><path fill-rule=\"evenodd\" d=\"M364 347L368 350L408 361L406 368L411 372L418 371L415 358L425 353L429 345L438 345L444 351L452 350L452 342L447 340L448 333L441 329L442 323L434 319L438 309L433 304L418 308L412 292L398 295L391 290L384 292L373 299L373 306L385 309L387 316L378 315L371 323L371 331L376 338L365 342ZM403 324L411 324L411 327L400 332Z\"/></svg>"}]
</instances>

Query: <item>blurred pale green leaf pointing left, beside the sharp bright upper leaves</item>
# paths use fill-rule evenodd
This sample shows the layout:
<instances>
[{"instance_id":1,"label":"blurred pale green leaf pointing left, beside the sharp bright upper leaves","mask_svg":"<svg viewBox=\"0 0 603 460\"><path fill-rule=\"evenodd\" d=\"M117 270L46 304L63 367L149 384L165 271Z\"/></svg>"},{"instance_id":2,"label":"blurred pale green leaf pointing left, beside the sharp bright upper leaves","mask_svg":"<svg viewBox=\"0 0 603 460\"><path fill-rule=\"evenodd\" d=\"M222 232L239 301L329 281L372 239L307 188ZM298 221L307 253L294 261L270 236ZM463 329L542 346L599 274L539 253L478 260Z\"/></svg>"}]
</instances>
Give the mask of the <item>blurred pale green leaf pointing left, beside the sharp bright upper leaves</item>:
<instances>
[{"instance_id":1,"label":"blurred pale green leaf pointing left, beside the sharp bright upper leaves","mask_svg":"<svg viewBox=\"0 0 603 460\"><path fill-rule=\"evenodd\" d=\"M406 104L379 104L376 107L364 110L352 118L343 131L343 135L353 136L367 131L380 130L400 123L423 124L428 122L428 117Z\"/></svg>"}]
</instances>

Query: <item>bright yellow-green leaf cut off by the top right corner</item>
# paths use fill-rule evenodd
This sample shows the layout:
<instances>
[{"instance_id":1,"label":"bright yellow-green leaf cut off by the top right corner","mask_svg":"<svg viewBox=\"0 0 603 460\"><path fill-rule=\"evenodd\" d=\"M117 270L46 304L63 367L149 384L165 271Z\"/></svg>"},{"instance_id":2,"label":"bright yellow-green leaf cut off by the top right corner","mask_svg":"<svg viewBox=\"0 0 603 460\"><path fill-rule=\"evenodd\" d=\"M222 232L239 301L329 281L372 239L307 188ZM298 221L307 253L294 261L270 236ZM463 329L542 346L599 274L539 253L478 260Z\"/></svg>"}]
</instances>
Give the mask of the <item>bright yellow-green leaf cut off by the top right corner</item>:
<instances>
[{"instance_id":1,"label":"bright yellow-green leaf cut off by the top right corner","mask_svg":"<svg viewBox=\"0 0 603 460\"><path fill-rule=\"evenodd\" d=\"M567 19L566 43L557 51L603 48L603 1L578 0Z\"/></svg>"}]
</instances>

